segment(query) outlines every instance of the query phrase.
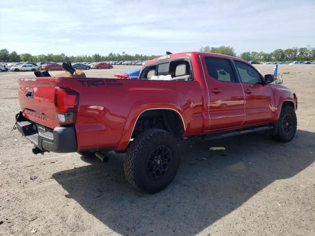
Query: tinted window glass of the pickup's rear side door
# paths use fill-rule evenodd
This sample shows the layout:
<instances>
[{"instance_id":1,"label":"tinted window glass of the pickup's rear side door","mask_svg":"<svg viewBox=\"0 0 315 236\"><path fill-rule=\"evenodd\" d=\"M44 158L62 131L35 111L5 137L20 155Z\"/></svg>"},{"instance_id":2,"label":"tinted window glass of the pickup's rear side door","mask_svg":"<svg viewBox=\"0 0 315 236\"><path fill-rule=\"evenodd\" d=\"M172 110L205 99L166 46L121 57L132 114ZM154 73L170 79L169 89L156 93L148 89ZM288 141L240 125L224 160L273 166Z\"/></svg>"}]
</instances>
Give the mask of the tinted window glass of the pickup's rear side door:
<instances>
[{"instance_id":1,"label":"tinted window glass of the pickup's rear side door","mask_svg":"<svg viewBox=\"0 0 315 236\"><path fill-rule=\"evenodd\" d=\"M232 66L228 59L206 57L205 62L210 77L222 82L236 83Z\"/></svg>"}]
</instances>

